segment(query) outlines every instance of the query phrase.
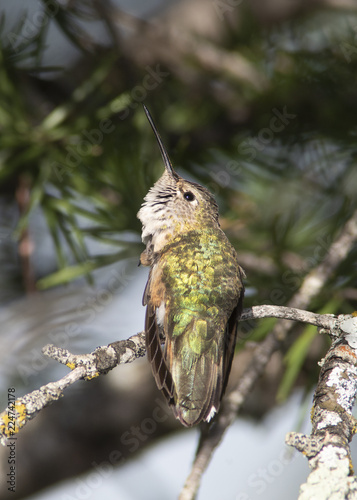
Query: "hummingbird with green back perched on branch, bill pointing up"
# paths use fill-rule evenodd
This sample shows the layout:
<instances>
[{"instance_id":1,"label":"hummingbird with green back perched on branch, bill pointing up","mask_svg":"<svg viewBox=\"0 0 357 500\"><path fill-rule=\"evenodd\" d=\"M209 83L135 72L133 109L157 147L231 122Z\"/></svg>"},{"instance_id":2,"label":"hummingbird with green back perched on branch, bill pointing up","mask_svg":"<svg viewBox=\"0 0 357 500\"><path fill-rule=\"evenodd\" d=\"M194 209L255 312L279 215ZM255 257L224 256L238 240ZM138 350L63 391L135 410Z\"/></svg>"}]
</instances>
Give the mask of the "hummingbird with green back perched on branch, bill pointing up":
<instances>
[{"instance_id":1,"label":"hummingbird with green back perched on branch, bill pointing up","mask_svg":"<svg viewBox=\"0 0 357 500\"><path fill-rule=\"evenodd\" d=\"M231 370L245 273L205 187L179 176L153 119L165 171L137 216L150 266L143 295L146 351L158 388L186 427L209 422Z\"/></svg>"}]
</instances>

